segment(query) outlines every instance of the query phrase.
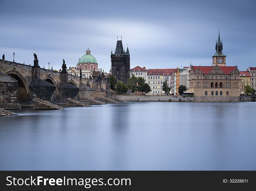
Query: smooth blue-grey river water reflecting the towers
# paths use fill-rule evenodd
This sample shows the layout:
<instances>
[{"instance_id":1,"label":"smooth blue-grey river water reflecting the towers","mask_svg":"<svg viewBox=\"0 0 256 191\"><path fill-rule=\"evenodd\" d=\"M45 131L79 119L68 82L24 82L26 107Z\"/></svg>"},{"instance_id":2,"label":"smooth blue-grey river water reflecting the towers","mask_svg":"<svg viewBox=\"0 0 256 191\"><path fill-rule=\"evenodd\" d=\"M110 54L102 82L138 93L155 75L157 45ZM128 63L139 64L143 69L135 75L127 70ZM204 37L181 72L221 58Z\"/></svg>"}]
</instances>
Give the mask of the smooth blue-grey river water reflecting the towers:
<instances>
[{"instance_id":1,"label":"smooth blue-grey river water reflecting the towers","mask_svg":"<svg viewBox=\"0 0 256 191\"><path fill-rule=\"evenodd\" d=\"M0 170L256 170L256 103L130 102L0 117Z\"/></svg>"}]
</instances>

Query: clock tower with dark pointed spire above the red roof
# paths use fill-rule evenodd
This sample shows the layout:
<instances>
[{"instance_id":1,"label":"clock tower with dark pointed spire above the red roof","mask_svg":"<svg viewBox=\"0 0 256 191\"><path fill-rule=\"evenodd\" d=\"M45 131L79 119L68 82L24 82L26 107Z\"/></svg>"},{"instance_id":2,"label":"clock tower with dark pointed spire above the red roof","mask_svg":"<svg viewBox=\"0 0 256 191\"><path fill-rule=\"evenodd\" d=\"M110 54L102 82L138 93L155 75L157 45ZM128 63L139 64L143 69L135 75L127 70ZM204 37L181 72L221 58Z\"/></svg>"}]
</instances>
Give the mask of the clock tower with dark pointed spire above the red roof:
<instances>
[{"instance_id":1,"label":"clock tower with dark pointed spire above the red roof","mask_svg":"<svg viewBox=\"0 0 256 191\"><path fill-rule=\"evenodd\" d=\"M216 40L215 50L216 53L214 56L212 56L212 65L218 65L218 66L226 66L226 55L222 53L222 40L220 38L220 31L219 31L219 37L218 37L218 43Z\"/></svg>"}]
</instances>

